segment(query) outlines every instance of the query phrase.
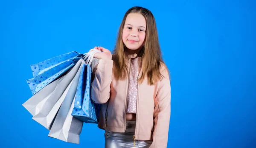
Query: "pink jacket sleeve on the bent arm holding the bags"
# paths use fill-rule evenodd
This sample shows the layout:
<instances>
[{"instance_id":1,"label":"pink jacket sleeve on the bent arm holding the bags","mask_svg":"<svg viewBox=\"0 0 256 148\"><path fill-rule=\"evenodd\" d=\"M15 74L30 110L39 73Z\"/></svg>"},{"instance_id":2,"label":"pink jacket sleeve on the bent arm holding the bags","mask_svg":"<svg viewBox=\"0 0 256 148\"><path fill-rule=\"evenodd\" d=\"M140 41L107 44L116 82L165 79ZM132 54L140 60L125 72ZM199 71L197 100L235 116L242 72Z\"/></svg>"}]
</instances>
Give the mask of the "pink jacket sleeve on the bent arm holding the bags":
<instances>
[{"instance_id":1,"label":"pink jacket sleeve on the bent arm holding the bags","mask_svg":"<svg viewBox=\"0 0 256 148\"><path fill-rule=\"evenodd\" d=\"M110 98L113 60L99 59L99 64L93 70L91 83L91 99L95 103L106 103Z\"/></svg>"}]
</instances>

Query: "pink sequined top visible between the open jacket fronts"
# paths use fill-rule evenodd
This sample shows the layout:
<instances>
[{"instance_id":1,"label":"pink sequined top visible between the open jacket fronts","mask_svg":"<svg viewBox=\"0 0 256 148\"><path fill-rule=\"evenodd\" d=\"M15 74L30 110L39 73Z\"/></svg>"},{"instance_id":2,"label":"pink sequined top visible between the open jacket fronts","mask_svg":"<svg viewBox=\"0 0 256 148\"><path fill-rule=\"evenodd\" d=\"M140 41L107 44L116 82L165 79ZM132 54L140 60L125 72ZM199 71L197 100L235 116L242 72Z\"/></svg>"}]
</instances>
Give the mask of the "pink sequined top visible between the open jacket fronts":
<instances>
[{"instance_id":1,"label":"pink sequined top visible between the open jacket fronts","mask_svg":"<svg viewBox=\"0 0 256 148\"><path fill-rule=\"evenodd\" d=\"M137 55L134 54L134 56L136 57ZM140 73L140 69L141 69L141 57L131 58L127 113L136 113L137 93L138 93L137 79Z\"/></svg>"}]
</instances>

